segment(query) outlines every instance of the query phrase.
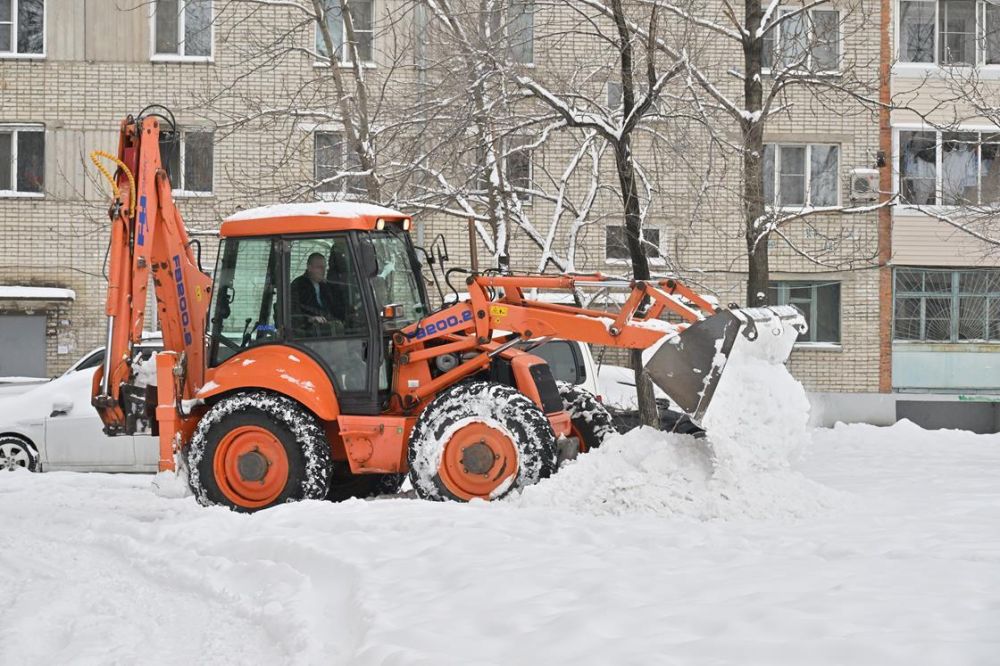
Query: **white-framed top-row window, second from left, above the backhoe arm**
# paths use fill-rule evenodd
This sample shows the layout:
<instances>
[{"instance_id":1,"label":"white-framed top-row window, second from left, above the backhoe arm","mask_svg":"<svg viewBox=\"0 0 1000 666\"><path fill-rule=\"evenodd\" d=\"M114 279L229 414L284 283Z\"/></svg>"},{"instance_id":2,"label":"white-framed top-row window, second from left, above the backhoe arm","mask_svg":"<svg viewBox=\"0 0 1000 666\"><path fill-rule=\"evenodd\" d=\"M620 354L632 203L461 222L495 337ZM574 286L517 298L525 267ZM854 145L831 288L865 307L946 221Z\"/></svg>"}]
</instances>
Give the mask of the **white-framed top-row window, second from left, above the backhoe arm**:
<instances>
[{"instance_id":1,"label":"white-framed top-row window, second from left, above the backhoe arm","mask_svg":"<svg viewBox=\"0 0 1000 666\"><path fill-rule=\"evenodd\" d=\"M156 0L153 55L212 56L212 0Z\"/></svg>"}]
</instances>

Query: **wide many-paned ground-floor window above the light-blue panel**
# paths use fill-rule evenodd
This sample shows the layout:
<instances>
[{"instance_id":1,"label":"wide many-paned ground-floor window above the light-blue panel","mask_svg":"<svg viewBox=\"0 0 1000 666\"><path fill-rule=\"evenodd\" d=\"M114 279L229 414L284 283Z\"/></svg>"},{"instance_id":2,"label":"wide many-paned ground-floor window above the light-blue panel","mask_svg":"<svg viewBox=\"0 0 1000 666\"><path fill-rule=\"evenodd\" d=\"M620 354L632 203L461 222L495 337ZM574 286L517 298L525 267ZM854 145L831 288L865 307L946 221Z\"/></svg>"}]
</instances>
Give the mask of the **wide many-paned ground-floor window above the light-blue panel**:
<instances>
[{"instance_id":1,"label":"wide many-paned ground-floor window above the light-blue panel","mask_svg":"<svg viewBox=\"0 0 1000 666\"><path fill-rule=\"evenodd\" d=\"M1000 271L897 268L893 338L1000 341Z\"/></svg>"}]
</instances>

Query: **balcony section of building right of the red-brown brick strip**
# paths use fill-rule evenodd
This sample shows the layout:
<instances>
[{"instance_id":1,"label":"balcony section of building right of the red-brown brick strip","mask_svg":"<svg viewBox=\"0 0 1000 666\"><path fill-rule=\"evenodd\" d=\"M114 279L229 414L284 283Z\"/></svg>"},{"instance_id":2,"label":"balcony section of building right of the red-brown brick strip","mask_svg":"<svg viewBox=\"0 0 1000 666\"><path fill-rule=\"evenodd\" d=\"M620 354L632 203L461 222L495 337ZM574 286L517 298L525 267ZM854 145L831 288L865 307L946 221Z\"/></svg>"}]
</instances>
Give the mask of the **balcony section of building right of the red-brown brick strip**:
<instances>
[{"instance_id":1,"label":"balcony section of building right of the red-brown brick strip","mask_svg":"<svg viewBox=\"0 0 1000 666\"><path fill-rule=\"evenodd\" d=\"M891 91L892 389L900 416L996 431L1000 13L899 0ZM968 229L968 231L966 230ZM927 415L930 416L927 416Z\"/></svg>"}]
</instances>

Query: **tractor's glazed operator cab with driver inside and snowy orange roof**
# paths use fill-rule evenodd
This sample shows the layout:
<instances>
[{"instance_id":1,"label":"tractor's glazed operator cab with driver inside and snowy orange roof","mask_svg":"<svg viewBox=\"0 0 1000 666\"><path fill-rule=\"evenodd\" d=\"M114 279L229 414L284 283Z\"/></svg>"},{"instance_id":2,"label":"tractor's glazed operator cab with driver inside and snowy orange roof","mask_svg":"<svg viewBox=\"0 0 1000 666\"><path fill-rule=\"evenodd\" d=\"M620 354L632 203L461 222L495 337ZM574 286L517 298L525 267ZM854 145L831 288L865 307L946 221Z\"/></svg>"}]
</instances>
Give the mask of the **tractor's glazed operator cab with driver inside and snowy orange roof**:
<instances>
[{"instance_id":1,"label":"tractor's glazed operator cab with driver inside and snowy orange roof","mask_svg":"<svg viewBox=\"0 0 1000 666\"><path fill-rule=\"evenodd\" d=\"M390 394L391 332L429 312L409 224L356 203L270 206L226 220L209 366L286 345L320 362L345 411L379 413Z\"/></svg>"}]
</instances>

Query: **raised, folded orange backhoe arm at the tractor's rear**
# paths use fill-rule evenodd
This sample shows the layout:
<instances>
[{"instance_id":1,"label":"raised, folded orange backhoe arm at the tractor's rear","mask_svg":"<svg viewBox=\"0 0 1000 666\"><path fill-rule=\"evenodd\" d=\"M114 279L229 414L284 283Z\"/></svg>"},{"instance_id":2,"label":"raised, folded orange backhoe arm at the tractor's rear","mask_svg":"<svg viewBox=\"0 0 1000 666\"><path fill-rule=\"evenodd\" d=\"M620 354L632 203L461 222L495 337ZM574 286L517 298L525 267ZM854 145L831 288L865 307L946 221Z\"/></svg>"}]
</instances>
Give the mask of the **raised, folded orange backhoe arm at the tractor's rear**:
<instances>
[{"instance_id":1,"label":"raised, folded orange backhoe arm at the tractor's rear","mask_svg":"<svg viewBox=\"0 0 1000 666\"><path fill-rule=\"evenodd\" d=\"M165 351L176 352L174 387L190 399L204 380L204 336L211 278L198 265L191 239L174 205L170 179L160 157L161 117L129 116L121 123L117 170L111 176L115 201L108 214L108 318L104 365L94 375L93 404L108 434L134 430L127 418L152 404L137 399L133 348L141 340L150 278ZM95 159L95 163L97 160ZM149 419L152 420L152 419Z\"/></svg>"}]
</instances>

